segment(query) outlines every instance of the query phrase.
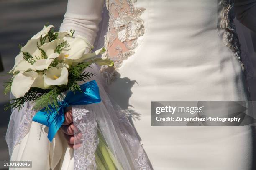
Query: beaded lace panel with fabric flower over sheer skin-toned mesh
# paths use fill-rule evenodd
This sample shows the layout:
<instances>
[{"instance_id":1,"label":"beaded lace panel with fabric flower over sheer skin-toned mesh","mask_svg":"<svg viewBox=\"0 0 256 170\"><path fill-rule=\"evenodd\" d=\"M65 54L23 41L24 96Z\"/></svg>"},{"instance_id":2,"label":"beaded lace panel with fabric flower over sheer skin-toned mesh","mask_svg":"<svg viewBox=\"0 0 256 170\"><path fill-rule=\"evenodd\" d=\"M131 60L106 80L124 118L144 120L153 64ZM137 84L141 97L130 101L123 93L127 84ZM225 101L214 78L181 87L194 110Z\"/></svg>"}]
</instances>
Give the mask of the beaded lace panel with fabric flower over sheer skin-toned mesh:
<instances>
[{"instance_id":1,"label":"beaded lace panel with fabric flower over sheer skin-toned mesh","mask_svg":"<svg viewBox=\"0 0 256 170\"><path fill-rule=\"evenodd\" d=\"M115 69L133 55L137 38L144 34L144 21L140 18L145 8L136 8L137 0L107 0L109 11L108 32L105 35L105 55L113 60Z\"/></svg>"}]
</instances>

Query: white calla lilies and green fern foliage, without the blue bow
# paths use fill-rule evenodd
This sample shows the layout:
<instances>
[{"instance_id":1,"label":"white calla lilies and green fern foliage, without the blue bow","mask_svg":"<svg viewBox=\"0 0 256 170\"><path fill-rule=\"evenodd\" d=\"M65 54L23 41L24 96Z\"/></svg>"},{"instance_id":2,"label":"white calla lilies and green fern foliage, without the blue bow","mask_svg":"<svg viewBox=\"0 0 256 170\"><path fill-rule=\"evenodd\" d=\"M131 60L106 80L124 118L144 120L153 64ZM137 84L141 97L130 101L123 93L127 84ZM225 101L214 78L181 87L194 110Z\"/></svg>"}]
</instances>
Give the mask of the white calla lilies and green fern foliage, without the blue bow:
<instances>
[{"instance_id":1,"label":"white calla lilies and green fern foliage, without the blue bow","mask_svg":"<svg viewBox=\"0 0 256 170\"><path fill-rule=\"evenodd\" d=\"M28 101L35 103L35 109L49 104L57 106L62 92L81 90L77 82L94 76L83 72L86 67L92 63L112 64L97 57L105 52L104 48L91 53L93 46L85 37L73 37L73 30L54 32L53 28L44 26L25 46L20 45L10 71L13 77L5 84L5 94L11 91L15 97L10 107L21 108Z\"/></svg>"}]
</instances>

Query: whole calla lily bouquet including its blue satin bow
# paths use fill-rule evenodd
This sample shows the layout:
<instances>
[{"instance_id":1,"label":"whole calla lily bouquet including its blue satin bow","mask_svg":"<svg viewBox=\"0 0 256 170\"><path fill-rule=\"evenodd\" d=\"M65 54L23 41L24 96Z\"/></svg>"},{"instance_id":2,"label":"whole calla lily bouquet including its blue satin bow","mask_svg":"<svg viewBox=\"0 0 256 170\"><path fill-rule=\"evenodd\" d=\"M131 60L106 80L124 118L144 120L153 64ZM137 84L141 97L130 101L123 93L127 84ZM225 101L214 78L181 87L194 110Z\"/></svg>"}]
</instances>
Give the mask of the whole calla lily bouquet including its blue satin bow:
<instances>
[{"instance_id":1,"label":"whole calla lily bouquet including its blue satin bow","mask_svg":"<svg viewBox=\"0 0 256 170\"><path fill-rule=\"evenodd\" d=\"M92 52L85 37L73 35L74 30L54 32L53 25L44 26L25 46L20 45L10 71L13 77L5 83L5 94L11 91L14 96L7 109L20 109L32 102L34 110L41 109L33 121L49 127L50 141L64 122L67 106L100 102L95 80L78 85L95 75L84 70L92 63L112 65L107 58L97 57L104 48Z\"/></svg>"}]
</instances>

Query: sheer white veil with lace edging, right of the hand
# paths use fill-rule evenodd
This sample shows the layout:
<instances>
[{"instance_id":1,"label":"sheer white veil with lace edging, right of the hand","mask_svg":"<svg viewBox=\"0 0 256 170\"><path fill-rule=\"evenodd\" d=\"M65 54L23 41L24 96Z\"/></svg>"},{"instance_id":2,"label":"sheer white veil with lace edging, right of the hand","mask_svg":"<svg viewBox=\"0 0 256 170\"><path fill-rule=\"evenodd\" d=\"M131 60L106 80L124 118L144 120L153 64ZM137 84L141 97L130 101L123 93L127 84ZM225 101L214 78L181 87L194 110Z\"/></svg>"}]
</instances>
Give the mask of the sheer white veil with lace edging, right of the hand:
<instances>
[{"instance_id":1,"label":"sheer white veil with lace edging, right of the hand","mask_svg":"<svg viewBox=\"0 0 256 170\"><path fill-rule=\"evenodd\" d=\"M97 70L96 66L88 69ZM126 117L124 110L115 105L105 92L105 80L100 70L95 72L100 89L102 102L84 106L74 106L74 126L82 132L82 145L74 150L74 163L76 170L96 170L95 150L99 139L97 126L100 128L105 142L117 158L123 170L151 170L146 153L144 152L135 130ZM94 77L95 78L95 77ZM76 134L75 134L76 136ZM76 143L76 137L74 137ZM79 141L77 141L79 143Z\"/></svg>"}]
</instances>

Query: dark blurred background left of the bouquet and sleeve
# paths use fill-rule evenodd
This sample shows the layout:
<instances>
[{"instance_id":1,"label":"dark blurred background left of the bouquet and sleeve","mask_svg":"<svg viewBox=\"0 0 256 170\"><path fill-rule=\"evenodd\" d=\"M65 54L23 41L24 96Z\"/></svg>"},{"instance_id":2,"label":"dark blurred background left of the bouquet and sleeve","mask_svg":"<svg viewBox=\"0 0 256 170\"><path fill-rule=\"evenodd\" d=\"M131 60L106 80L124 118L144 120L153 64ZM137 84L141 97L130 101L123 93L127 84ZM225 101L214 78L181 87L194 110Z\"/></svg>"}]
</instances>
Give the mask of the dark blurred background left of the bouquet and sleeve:
<instances>
[{"instance_id":1,"label":"dark blurred background left of the bouquet and sleeve","mask_svg":"<svg viewBox=\"0 0 256 170\"><path fill-rule=\"evenodd\" d=\"M66 7L67 0L0 0L1 75L13 68L14 59L19 53L18 44L25 45L47 22L59 30ZM5 132L10 110L4 111L9 95L3 95L3 83L9 78L0 76L0 161L9 160Z\"/></svg>"}]
</instances>

